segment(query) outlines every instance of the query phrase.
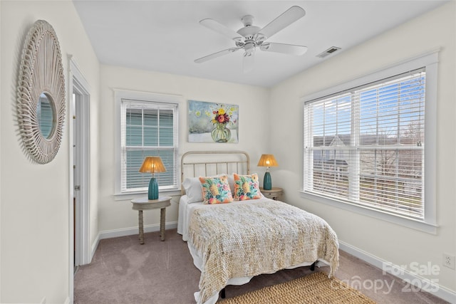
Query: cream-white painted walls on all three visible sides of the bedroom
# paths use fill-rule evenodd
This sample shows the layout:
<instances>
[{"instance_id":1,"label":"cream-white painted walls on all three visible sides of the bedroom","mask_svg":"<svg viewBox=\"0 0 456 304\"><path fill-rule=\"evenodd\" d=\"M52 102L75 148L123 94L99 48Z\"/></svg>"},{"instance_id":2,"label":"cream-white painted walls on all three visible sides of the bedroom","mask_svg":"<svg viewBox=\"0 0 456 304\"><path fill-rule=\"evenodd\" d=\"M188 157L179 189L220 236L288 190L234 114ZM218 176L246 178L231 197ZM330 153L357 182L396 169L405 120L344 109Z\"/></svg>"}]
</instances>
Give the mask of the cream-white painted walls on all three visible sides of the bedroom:
<instances>
[{"instance_id":1,"label":"cream-white painted walls on all three visible sides of the bedroom","mask_svg":"<svg viewBox=\"0 0 456 304\"><path fill-rule=\"evenodd\" d=\"M271 90L177 75L99 65L71 1L0 1L0 302L63 303L68 300L71 174L68 110L61 150L50 164L31 162L21 150L16 122L16 78L26 32L37 19L53 25L61 44L65 75L72 54L91 88L90 244L99 232L138 227L129 199L113 195L115 103L113 88L180 94L184 100L239 105L239 144L187 142L187 101L180 105L180 155L189 150L246 150L252 172L262 153L274 153L274 186L292 204L326 219L341 241L395 264L412 261L441 266L442 252L456 253L455 204L455 4L384 33L372 41L328 58L321 65ZM437 235L406 229L341 209L306 201L302 184L302 105L299 98L378 68L442 47L439 66L437 138ZM68 80L67 80L68 81ZM67 88L68 90L68 88ZM100 98L98 98L100 96ZM288 107L287 107L288 106ZM286 109L289 110L286 110ZM285 109L285 110L284 110ZM271 145L274 142L274 146ZM440 148L440 149L439 149ZM167 209L177 221L177 205ZM145 224L159 223L148 211ZM362 227L362 229L360 229ZM441 267L440 285L456 290L455 271Z\"/></svg>"}]
</instances>

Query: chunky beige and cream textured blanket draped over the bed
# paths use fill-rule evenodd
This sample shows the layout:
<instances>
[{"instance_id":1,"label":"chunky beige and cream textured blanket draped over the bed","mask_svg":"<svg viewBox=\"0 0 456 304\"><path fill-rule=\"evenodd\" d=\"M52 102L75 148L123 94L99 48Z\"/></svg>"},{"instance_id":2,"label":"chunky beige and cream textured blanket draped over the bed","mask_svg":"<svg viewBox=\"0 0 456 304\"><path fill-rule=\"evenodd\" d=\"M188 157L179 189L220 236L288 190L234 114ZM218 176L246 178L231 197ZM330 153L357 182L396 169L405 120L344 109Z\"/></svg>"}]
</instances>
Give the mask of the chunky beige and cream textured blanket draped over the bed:
<instances>
[{"instance_id":1,"label":"chunky beige and cream textured blanket draped over the bed","mask_svg":"<svg viewBox=\"0 0 456 304\"><path fill-rule=\"evenodd\" d=\"M336 233L320 217L281 201L205 205L190 218L189 240L202 256L199 300L230 278L274 273L321 260L338 268Z\"/></svg>"}]
</instances>

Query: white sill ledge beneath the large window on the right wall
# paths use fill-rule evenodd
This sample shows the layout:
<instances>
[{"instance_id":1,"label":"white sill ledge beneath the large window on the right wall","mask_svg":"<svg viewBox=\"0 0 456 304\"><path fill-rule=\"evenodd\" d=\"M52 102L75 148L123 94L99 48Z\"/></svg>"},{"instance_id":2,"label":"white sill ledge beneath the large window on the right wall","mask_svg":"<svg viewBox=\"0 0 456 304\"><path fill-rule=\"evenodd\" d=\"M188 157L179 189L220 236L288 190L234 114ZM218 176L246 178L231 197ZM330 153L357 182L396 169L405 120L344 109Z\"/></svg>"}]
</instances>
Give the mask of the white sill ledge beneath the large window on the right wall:
<instances>
[{"instance_id":1,"label":"white sill ledge beneath the large window on the right wall","mask_svg":"<svg viewBox=\"0 0 456 304\"><path fill-rule=\"evenodd\" d=\"M358 206L356 204L350 204L343 201L336 201L333 199L328 199L323 196L318 196L316 194L310 194L304 191L301 192L301 197L304 199L310 199L311 201L317 201L318 203L327 204L329 206L335 206L336 208L340 208L343 210L356 212L358 214L363 214L366 216L371 216L374 219L380 219L382 221L388 221L393 224L397 224L400 226L405 226L411 229L415 229L418 231L426 232L427 234L437 234L437 225L428 223L426 221L414 220L414 219L407 219L405 217L388 214L387 212L378 211L375 209L370 209L366 206Z\"/></svg>"}]
</instances>

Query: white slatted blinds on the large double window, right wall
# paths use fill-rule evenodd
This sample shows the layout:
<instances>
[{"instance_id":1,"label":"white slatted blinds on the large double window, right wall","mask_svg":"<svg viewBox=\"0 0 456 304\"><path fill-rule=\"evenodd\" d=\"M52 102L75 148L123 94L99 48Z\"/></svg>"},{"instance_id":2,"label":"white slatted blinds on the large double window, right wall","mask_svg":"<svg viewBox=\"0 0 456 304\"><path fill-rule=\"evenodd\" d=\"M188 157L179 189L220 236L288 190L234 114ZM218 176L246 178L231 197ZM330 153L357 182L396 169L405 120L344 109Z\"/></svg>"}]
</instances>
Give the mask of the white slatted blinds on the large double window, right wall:
<instances>
[{"instance_id":1,"label":"white slatted blinds on the large double window, right wall","mask_svg":"<svg viewBox=\"0 0 456 304\"><path fill-rule=\"evenodd\" d=\"M425 69L304 104L304 192L424 219Z\"/></svg>"}]
</instances>

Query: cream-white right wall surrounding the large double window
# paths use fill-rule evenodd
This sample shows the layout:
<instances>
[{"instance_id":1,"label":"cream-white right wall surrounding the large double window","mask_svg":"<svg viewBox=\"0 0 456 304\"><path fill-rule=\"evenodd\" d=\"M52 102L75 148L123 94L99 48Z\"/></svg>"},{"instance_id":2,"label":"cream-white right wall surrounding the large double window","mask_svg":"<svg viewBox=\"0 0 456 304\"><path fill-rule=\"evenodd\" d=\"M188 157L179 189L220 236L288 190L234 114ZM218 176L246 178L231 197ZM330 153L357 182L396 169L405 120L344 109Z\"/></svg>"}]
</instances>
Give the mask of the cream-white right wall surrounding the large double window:
<instances>
[{"instance_id":1,"label":"cream-white right wall surrounding the large double window","mask_svg":"<svg viewBox=\"0 0 456 304\"><path fill-rule=\"evenodd\" d=\"M328 58L271 89L271 147L280 167L273 170L286 200L326 219L344 243L396 265L440 266L441 288L455 293L455 270L442 266L442 253L456 254L455 176L455 2ZM437 234L427 234L301 198L303 105L300 98L441 47L437 105ZM285 109L285 110L284 110ZM293 147L290 149L290 147ZM426 277L426 276L425 276Z\"/></svg>"}]
</instances>

